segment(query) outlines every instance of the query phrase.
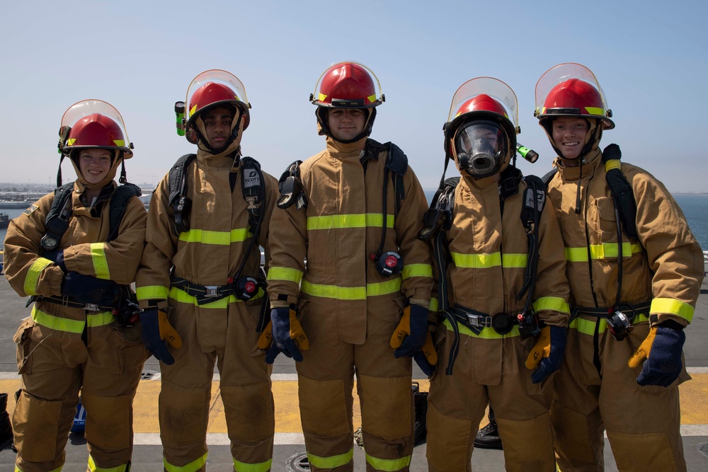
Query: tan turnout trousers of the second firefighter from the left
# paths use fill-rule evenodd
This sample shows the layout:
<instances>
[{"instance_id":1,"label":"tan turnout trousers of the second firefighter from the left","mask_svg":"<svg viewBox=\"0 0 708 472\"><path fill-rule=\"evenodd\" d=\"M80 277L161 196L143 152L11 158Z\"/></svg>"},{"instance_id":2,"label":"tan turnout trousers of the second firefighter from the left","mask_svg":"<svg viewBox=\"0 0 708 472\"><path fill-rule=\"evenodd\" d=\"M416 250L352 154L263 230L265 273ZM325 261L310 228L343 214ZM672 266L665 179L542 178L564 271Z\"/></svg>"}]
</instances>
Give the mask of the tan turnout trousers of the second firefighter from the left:
<instances>
[{"instance_id":1,"label":"tan turnout trousers of the second firefighter from the left","mask_svg":"<svg viewBox=\"0 0 708 472\"><path fill-rule=\"evenodd\" d=\"M186 295L174 288L172 292L176 297ZM265 364L264 354L258 350L256 329L263 300L229 304L226 300L196 306L170 299L174 307L170 323L181 336L182 347L173 350L174 364L160 363L159 417L165 470L206 470L215 364L234 471L270 470L275 432L272 366Z\"/></svg>"}]
</instances>

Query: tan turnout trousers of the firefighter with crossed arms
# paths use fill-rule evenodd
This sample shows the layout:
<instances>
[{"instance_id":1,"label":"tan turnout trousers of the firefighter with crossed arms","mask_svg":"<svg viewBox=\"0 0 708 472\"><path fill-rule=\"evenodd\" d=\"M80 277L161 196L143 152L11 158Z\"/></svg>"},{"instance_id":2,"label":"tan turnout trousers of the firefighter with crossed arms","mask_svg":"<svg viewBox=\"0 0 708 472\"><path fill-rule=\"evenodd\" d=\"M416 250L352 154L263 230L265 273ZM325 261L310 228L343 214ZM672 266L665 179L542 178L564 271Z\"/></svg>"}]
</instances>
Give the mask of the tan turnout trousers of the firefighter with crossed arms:
<instances>
[{"instance_id":1,"label":"tan turnout trousers of the firefighter with crossed arms","mask_svg":"<svg viewBox=\"0 0 708 472\"><path fill-rule=\"evenodd\" d=\"M88 318L89 325L113 320L110 313ZM130 466L132 401L148 357L140 328L110 322L82 330L81 323L35 306L15 335L22 377L12 418L16 471L62 470L79 391L86 408L86 470L125 472Z\"/></svg>"}]
</instances>

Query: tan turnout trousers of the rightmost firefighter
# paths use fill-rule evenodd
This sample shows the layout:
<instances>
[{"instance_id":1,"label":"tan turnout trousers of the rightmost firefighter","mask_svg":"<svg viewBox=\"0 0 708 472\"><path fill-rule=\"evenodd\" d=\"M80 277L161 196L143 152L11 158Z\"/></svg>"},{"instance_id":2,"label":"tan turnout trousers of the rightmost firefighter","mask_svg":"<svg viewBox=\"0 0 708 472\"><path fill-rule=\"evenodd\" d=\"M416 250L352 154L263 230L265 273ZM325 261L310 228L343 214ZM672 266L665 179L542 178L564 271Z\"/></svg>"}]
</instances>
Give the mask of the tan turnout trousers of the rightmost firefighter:
<instances>
[{"instance_id":1,"label":"tan turnout trousers of the rightmost firefighter","mask_svg":"<svg viewBox=\"0 0 708 472\"><path fill-rule=\"evenodd\" d=\"M551 419L561 472L604 471L605 430L620 471L685 471L678 384L690 376L684 369L666 388L639 386L641 365L630 369L627 361L649 333L649 323L638 323L628 338L617 341L607 321L596 320L571 323L554 383Z\"/></svg>"}]
</instances>

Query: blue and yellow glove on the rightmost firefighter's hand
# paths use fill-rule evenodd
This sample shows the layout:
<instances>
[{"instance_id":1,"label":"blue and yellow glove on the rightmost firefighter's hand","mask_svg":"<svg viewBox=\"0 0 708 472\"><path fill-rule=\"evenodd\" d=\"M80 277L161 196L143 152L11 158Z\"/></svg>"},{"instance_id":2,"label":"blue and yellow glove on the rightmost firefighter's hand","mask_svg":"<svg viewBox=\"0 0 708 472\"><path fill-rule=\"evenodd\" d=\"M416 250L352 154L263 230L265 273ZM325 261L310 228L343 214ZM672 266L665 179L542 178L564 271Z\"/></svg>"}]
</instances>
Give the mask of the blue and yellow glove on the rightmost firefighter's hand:
<instances>
[{"instance_id":1,"label":"blue and yellow glove on the rightmost firefighter's hand","mask_svg":"<svg viewBox=\"0 0 708 472\"><path fill-rule=\"evenodd\" d=\"M627 362L632 369L644 362L636 383L662 387L673 384L683 370L681 352L685 341L683 326L675 321L664 321L651 328L644 342Z\"/></svg>"}]
</instances>

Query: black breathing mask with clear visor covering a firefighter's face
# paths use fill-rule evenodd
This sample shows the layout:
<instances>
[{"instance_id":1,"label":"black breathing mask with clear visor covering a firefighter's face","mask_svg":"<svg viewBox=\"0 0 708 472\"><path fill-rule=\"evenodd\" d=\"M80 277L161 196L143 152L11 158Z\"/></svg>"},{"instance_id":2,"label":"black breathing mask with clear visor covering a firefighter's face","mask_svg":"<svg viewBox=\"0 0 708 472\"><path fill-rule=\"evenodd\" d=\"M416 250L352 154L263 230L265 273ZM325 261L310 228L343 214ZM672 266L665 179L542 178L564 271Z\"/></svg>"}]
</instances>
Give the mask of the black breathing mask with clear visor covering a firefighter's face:
<instances>
[{"instance_id":1,"label":"black breathing mask with clear visor covering a firefighter's face","mask_svg":"<svg viewBox=\"0 0 708 472\"><path fill-rule=\"evenodd\" d=\"M460 126L453 139L459 170L476 178L496 173L509 151L504 129L487 120L475 120Z\"/></svg>"}]
</instances>

